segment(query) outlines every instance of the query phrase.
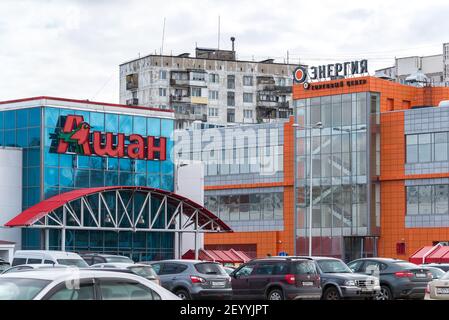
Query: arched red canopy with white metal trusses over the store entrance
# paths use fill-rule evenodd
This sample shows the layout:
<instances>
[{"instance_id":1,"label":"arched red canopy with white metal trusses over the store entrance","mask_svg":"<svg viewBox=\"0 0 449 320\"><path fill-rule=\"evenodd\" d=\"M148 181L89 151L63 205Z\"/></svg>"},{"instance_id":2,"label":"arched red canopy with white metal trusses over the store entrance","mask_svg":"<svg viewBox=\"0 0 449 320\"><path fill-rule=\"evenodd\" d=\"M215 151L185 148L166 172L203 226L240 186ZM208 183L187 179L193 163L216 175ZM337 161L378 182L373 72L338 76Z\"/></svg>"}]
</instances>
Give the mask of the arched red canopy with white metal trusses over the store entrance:
<instances>
[{"instance_id":1,"label":"arched red canopy with white metal trusses over the store entrance","mask_svg":"<svg viewBox=\"0 0 449 320\"><path fill-rule=\"evenodd\" d=\"M183 233L194 233L195 251L199 233L232 232L212 212L188 198L135 186L66 192L28 208L5 226L44 229L46 248L48 230L59 229L63 251L66 230L172 232L178 234L178 246Z\"/></svg>"}]
</instances>

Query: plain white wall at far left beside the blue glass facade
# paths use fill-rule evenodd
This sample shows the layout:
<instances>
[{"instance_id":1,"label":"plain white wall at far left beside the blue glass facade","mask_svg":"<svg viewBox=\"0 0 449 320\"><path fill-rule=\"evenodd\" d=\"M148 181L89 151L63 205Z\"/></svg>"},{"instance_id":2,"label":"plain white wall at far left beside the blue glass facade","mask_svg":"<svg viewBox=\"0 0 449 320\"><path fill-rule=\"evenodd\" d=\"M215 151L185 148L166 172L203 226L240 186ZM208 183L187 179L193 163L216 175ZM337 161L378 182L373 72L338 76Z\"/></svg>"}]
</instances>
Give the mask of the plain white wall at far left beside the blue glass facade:
<instances>
[{"instance_id":1,"label":"plain white wall at far left beside the blue glass facade","mask_svg":"<svg viewBox=\"0 0 449 320\"><path fill-rule=\"evenodd\" d=\"M0 148L0 240L21 247L21 229L5 228L5 223L22 212L22 150Z\"/></svg>"}]
</instances>

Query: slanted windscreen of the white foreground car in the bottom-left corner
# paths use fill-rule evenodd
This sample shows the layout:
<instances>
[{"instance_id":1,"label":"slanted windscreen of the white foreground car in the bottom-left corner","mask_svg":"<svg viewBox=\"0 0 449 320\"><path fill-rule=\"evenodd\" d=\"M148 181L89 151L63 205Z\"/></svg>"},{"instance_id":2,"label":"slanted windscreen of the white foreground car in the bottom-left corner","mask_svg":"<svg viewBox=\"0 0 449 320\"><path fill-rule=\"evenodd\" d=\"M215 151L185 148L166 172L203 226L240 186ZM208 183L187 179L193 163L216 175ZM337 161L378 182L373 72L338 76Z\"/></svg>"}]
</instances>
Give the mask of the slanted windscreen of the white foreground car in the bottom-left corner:
<instances>
[{"instance_id":1,"label":"slanted windscreen of the white foreground car in the bottom-left corner","mask_svg":"<svg viewBox=\"0 0 449 320\"><path fill-rule=\"evenodd\" d=\"M32 300L50 281L0 278L0 300Z\"/></svg>"}]
</instances>

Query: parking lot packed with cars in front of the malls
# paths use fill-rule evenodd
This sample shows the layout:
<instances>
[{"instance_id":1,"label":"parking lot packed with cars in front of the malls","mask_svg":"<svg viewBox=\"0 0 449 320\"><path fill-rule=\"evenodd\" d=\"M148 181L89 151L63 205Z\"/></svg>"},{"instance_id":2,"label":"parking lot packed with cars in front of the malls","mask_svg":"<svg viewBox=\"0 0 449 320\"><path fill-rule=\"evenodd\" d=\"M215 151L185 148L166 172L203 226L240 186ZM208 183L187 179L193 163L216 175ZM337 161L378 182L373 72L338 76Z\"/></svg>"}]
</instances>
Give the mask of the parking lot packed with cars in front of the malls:
<instances>
[{"instance_id":1,"label":"parking lot packed with cars in front of the malls","mask_svg":"<svg viewBox=\"0 0 449 320\"><path fill-rule=\"evenodd\" d=\"M238 266L201 260L17 251L0 262L1 300L449 299L449 265L282 256Z\"/></svg>"}]
</instances>

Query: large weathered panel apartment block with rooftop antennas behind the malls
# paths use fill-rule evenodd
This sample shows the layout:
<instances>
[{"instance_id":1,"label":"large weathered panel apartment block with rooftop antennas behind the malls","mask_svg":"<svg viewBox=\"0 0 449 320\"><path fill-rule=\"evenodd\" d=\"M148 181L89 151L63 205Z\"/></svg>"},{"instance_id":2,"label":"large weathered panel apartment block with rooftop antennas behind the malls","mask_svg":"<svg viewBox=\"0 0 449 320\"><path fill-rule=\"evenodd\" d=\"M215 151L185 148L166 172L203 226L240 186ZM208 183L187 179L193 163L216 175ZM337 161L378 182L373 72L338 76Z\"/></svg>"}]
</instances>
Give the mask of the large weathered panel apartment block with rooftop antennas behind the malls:
<instances>
[{"instance_id":1,"label":"large weathered panel apartment block with rooftop antennas behind the malls","mask_svg":"<svg viewBox=\"0 0 449 320\"><path fill-rule=\"evenodd\" d=\"M120 65L120 102L172 109L177 129L194 122L278 121L293 114L296 66L237 60L234 50L196 48L195 57L148 55Z\"/></svg>"}]
</instances>

